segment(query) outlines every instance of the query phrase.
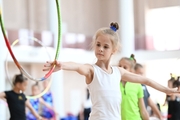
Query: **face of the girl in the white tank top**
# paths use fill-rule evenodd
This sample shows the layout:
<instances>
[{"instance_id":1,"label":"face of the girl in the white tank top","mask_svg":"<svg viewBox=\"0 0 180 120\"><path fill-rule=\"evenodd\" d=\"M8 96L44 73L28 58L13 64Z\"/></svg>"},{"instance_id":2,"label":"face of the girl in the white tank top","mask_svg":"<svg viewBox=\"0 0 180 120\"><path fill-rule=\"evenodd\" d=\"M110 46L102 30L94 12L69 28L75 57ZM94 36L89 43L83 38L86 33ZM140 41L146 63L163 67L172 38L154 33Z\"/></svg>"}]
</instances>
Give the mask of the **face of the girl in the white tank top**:
<instances>
[{"instance_id":1,"label":"face of the girl in the white tank top","mask_svg":"<svg viewBox=\"0 0 180 120\"><path fill-rule=\"evenodd\" d=\"M95 42L95 55L97 59L109 60L114 52L110 36L106 34L99 35Z\"/></svg>"}]
</instances>

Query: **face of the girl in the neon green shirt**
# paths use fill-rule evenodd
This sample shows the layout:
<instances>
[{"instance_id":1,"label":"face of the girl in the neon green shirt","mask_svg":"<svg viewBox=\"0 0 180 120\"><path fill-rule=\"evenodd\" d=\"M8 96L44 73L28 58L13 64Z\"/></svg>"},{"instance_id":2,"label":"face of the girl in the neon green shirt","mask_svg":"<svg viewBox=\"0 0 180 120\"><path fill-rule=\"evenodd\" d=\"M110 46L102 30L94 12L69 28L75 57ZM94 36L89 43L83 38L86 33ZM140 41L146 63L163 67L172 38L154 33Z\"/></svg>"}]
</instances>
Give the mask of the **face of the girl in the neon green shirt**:
<instances>
[{"instance_id":1,"label":"face of the girl in the neon green shirt","mask_svg":"<svg viewBox=\"0 0 180 120\"><path fill-rule=\"evenodd\" d=\"M125 60L125 59L121 59L119 61L119 67L122 67L124 68L125 70L131 72L131 63L128 61L128 60Z\"/></svg>"}]
</instances>

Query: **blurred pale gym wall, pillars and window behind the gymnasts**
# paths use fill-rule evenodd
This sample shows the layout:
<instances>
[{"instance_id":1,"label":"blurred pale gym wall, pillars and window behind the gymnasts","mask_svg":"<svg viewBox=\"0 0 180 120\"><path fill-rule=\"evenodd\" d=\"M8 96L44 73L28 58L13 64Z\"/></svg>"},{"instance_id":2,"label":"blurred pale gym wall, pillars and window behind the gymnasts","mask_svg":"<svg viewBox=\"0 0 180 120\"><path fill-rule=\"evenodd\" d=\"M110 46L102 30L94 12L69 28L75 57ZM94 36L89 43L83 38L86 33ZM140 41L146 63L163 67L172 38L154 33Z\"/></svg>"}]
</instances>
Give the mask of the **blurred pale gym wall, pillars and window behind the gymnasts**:
<instances>
[{"instance_id":1,"label":"blurred pale gym wall, pillars and window behind the gymnasts","mask_svg":"<svg viewBox=\"0 0 180 120\"><path fill-rule=\"evenodd\" d=\"M55 0L0 0L4 26L17 60L35 78L45 75L43 65L53 60L57 47L57 13ZM143 64L145 76L167 86L170 73L180 71L180 1L179 0L60 0L62 45L60 61L95 63L91 50L94 33L111 22L118 22L121 52L112 58L118 65L121 57L134 54ZM29 37L39 39L42 47ZM27 39L28 38L28 39ZM8 82L19 70L11 59L0 33L0 91L10 90ZM8 57L7 57L8 55ZM8 74L5 71L7 64ZM77 116L86 99L84 77L75 72L60 71L52 79L51 91L58 120ZM28 81L26 95L33 81ZM39 83L41 89L42 83ZM166 95L148 87L151 98L163 106ZM1 120L9 118L8 108L0 102Z\"/></svg>"}]
</instances>

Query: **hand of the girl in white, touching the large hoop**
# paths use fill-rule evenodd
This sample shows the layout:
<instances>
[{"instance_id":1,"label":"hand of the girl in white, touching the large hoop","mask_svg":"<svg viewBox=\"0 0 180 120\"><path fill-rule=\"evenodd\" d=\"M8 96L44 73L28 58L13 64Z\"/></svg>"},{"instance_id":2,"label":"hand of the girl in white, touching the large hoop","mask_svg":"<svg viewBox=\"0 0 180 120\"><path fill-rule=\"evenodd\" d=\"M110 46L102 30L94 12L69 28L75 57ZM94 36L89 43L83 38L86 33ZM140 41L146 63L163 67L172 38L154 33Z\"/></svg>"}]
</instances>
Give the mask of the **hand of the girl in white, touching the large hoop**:
<instances>
[{"instance_id":1,"label":"hand of the girl in white, touching the large hoop","mask_svg":"<svg viewBox=\"0 0 180 120\"><path fill-rule=\"evenodd\" d=\"M47 61L46 64L44 65L43 71L49 71L52 67L54 67L54 65L55 65L55 68L54 68L53 72L61 70L61 63L60 62L58 62L58 61L53 61L53 62Z\"/></svg>"}]
</instances>

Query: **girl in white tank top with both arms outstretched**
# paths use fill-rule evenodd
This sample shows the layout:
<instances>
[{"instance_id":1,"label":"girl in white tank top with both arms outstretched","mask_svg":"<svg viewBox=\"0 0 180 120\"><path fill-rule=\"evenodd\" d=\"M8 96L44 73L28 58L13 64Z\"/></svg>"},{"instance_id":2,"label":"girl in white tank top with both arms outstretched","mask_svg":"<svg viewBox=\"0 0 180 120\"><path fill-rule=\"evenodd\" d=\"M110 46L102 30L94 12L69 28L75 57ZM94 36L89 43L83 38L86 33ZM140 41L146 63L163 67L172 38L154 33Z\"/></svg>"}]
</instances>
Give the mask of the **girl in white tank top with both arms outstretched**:
<instances>
[{"instance_id":1,"label":"girl in white tank top with both arms outstretched","mask_svg":"<svg viewBox=\"0 0 180 120\"><path fill-rule=\"evenodd\" d=\"M93 40L97 58L95 64L54 61L47 62L43 68L43 71L48 71L56 64L54 72L76 71L85 76L92 101L89 120L121 120L121 80L146 84L166 94L180 93L177 89L164 87L151 79L110 65L112 55L119 49L119 37L116 32L118 29L118 23L111 23L110 28L97 30Z\"/></svg>"}]
</instances>

